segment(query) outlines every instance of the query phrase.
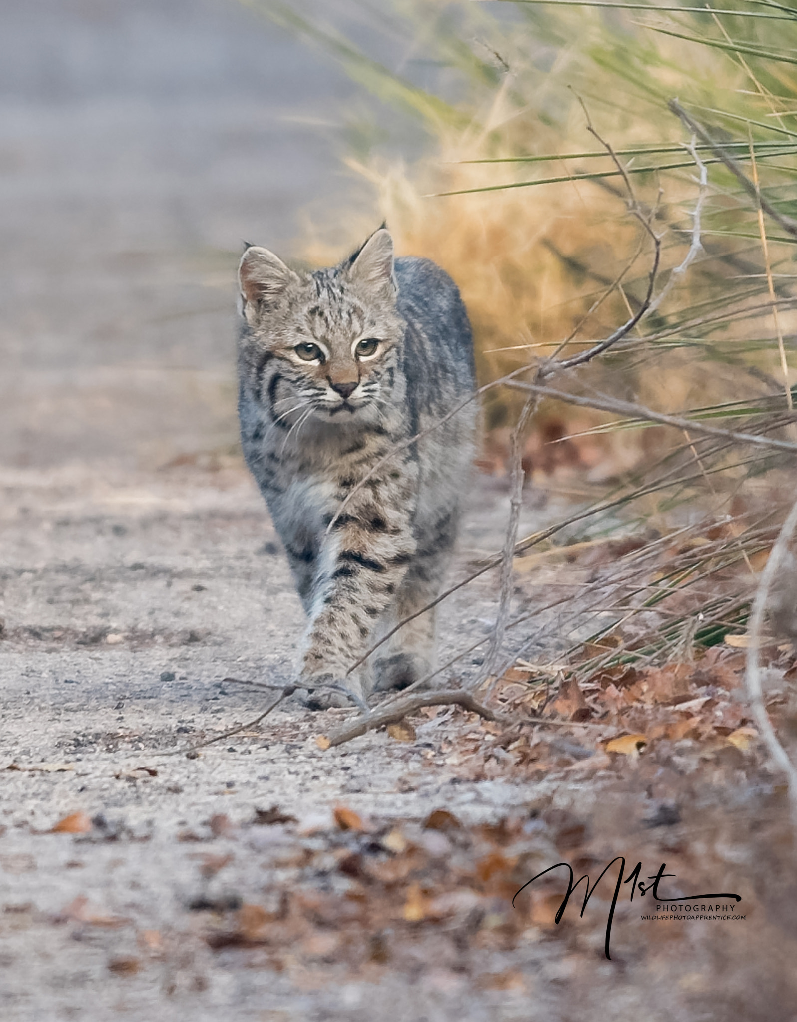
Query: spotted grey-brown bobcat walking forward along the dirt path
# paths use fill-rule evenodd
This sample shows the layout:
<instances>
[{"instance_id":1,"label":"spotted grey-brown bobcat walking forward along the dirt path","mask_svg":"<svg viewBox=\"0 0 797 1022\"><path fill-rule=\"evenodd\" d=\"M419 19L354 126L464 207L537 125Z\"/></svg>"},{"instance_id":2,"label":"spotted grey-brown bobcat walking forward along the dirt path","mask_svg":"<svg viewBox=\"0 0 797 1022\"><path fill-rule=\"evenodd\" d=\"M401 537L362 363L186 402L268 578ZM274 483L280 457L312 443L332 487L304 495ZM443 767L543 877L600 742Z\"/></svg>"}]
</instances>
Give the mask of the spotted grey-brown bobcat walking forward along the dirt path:
<instances>
[{"instance_id":1,"label":"spotted grey-brown bobcat walking forward along the dirt path","mask_svg":"<svg viewBox=\"0 0 797 1022\"><path fill-rule=\"evenodd\" d=\"M473 393L467 313L434 263L393 260L384 226L314 273L249 246L239 282L243 453L308 616L297 684L315 708L341 704L341 688L365 707L374 687L401 689L434 669L430 610L349 672L441 590L475 402L379 464L341 504L394 446Z\"/></svg>"}]
</instances>

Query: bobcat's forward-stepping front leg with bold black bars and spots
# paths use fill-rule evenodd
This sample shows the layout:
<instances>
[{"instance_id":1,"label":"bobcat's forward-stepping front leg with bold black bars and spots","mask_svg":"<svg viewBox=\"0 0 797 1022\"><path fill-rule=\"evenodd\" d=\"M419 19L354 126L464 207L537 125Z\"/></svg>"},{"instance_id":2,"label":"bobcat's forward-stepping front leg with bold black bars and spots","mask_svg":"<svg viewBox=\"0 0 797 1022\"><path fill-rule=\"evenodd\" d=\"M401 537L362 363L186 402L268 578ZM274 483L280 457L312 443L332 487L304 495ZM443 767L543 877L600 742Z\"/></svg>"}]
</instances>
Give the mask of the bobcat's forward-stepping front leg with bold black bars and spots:
<instances>
[{"instance_id":1,"label":"bobcat's forward-stepping front leg with bold black bars and spots","mask_svg":"<svg viewBox=\"0 0 797 1022\"><path fill-rule=\"evenodd\" d=\"M324 536L300 661L308 688L342 686L361 706L369 695L370 670L346 672L368 649L415 553L412 492L395 470L369 479Z\"/></svg>"}]
</instances>

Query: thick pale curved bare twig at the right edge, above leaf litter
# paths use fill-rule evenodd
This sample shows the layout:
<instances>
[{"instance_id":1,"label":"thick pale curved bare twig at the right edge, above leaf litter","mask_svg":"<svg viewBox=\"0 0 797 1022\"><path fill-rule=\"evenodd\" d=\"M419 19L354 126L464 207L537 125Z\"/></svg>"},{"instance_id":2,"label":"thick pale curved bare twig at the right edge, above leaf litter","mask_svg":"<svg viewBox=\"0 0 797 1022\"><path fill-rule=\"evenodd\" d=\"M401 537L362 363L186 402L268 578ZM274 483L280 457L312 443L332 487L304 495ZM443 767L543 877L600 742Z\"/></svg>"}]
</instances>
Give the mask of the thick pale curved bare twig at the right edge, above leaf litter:
<instances>
[{"instance_id":1,"label":"thick pale curved bare twig at the right edge, above leaf litter","mask_svg":"<svg viewBox=\"0 0 797 1022\"><path fill-rule=\"evenodd\" d=\"M795 528L797 528L797 501L792 505L792 509L783 523L781 531L778 533L778 539L775 541L764 569L761 572L761 578L758 583L755 599L753 600L747 624L750 644L747 647L745 685L747 687L747 696L750 700L750 709L761 732L761 737L769 750L769 755L784 774L786 774L789 786L789 799L792 806L792 818L795 826L797 826L797 768L795 768L778 740L775 728L772 728L769 715L766 712L761 692L761 675L758 662L758 651L761 646L761 625L763 624L769 590L776 574L788 554L789 544Z\"/></svg>"}]
</instances>

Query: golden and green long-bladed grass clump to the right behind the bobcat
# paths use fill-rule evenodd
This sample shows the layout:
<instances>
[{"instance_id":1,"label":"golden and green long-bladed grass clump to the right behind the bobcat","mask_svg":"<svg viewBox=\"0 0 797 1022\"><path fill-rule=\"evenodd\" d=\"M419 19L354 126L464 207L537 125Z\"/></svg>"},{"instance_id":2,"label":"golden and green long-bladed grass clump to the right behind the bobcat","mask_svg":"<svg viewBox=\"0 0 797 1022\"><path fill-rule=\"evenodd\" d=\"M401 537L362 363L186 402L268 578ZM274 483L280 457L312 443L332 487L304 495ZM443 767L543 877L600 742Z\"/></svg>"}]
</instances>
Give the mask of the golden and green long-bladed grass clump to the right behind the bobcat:
<instances>
[{"instance_id":1,"label":"golden and green long-bladed grass clump to the right behind the bobcat","mask_svg":"<svg viewBox=\"0 0 797 1022\"><path fill-rule=\"evenodd\" d=\"M606 656L684 655L742 628L794 455L739 434L797 439L797 50L785 45L797 12L775 0L705 12L688 0L614 10L393 0L385 18L356 3L367 32L349 18L342 36L301 3L252 2L402 111L389 123L384 105L370 121L349 115L347 164L373 202L311 233L307 256L328 264L341 236L354 246L386 219L400 253L434 260L459 284L482 383L523 366L530 380L542 360L584 350L640 310L653 263L647 221L661 239L653 308L611 352L556 378L585 404L546 398L521 444L526 480L575 497L577 509L517 537L514 552L645 538L627 565L630 590L600 595L587 645L610 634L619 645L596 654L596 669ZM385 52L398 56L374 56ZM686 119L668 108L674 97ZM408 117L432 140L410 162L382 144ZM322 242L332 235L334 245ZM681 425L611 411L607 396L677 414ZM487 391L485 470L509 474L525 397ZM684 529L696 542L675 543L683 564L637 593L649 562L662 570L656 544ZM710 620L696 624L706 600ZM581 631L568 656L587 669Z\"/></svg>"}]
</instances>

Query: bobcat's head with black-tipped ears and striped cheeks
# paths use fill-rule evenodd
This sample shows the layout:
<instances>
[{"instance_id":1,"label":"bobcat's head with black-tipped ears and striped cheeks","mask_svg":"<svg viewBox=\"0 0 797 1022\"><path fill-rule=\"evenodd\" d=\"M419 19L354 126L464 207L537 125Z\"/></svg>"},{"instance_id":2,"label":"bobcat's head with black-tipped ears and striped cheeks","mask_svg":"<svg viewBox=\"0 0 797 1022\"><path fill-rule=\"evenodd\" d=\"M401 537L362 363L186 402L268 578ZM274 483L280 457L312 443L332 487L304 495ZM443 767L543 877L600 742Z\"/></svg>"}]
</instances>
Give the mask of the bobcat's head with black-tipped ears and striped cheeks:
<instances>
[{"instance_id":1,"label":"bobcat's head with black-tipped ears and striped cheeks","mask_svg":"<svg viewBox=\"0 0 797 1022\"><path fill-rule=\"evenodd\" d=\"M277 425L306 417L378 422L406 323L392 239L380 228L330 270L297 273L251 246L238 271L246 329L242 373Z\"/></svg>"}]
</instances>

